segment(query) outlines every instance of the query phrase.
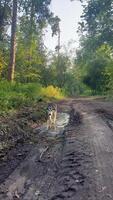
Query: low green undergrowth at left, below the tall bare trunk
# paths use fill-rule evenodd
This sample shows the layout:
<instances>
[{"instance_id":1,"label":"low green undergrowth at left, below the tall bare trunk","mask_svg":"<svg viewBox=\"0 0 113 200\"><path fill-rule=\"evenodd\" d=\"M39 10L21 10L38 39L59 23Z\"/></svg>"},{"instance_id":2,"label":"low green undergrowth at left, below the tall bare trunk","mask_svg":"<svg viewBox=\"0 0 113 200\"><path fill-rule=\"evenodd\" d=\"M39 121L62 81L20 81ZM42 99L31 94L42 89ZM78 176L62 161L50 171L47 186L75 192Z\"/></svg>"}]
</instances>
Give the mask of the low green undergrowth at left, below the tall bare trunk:
<instances>
[{"instance_id":1,"label":"low green undergrowth at left, below the tall bare trunk","mask_svg":"<svg viewBox=\"0 0 113 200\"><path fill-rule=\"evenodd\" d=\"M19 109L22 106L32 105L40 98L41 86L37 83L0 82L0 112Z\"/></svg>"}]
</instances>

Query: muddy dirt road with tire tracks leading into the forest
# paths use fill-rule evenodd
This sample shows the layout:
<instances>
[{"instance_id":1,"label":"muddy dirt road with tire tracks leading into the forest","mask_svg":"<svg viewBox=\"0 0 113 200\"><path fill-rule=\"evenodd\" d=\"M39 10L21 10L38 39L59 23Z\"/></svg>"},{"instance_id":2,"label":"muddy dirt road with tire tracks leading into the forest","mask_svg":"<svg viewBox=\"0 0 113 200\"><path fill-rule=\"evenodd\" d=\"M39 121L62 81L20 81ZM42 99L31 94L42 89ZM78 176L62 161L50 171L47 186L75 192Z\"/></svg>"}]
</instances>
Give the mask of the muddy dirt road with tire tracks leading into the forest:
<instances>
[{"instance_id":1,"label":"muddy dirt road with tire tracks leading into the forest","mask_svg":"<svg viewBox=\"0 0 113 200\"><path fill-rule=\"evenodd\" d=\"M38 142L0 185L0 200L113 200L113 103L70 99L58 111L56 131L35 130Z\"/></svg>"}]
</instances>

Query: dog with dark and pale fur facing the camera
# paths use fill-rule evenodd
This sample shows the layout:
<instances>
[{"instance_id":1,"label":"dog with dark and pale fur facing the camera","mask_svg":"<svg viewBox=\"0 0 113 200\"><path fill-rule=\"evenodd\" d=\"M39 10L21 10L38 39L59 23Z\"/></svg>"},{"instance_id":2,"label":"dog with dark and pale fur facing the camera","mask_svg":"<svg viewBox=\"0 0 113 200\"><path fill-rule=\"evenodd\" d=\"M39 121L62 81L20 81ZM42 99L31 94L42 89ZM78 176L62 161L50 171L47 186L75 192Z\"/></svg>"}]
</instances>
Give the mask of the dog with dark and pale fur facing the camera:
<instances>
[{"instance_id":1,"label":"dog with dark and pale fur facing the camera","mask_svg":"<svg viewBox=\"0 0 113 200\"><path fill-rule=\"evenodd\" d=\"M47 129L54 127L56 129L57 105L49 103L47 106Z\"/></svg>"}]
</instances>

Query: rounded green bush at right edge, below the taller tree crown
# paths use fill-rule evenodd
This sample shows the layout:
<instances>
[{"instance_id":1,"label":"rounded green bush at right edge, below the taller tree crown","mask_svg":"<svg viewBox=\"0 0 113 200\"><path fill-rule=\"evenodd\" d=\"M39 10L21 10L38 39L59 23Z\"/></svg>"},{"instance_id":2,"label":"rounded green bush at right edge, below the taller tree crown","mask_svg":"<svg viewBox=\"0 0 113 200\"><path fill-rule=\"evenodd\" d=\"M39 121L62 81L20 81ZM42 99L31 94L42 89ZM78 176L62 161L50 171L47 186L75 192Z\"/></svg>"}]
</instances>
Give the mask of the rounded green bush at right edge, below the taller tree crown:
<instances>
[{"instance_id":1,"label":"rounded green bush at right edge, below the taller tree crown","mask_svg":"<svg viewBox=\"0 0 113 200\"><path fill-rule=\"evenodd\" d=\"M105 93L109 90L111 73L108 69L112 64L112 49L108 45L102 45L89 60L87 58L83 82L92 89L93 94Z\"/></svg>"}]
</instances>

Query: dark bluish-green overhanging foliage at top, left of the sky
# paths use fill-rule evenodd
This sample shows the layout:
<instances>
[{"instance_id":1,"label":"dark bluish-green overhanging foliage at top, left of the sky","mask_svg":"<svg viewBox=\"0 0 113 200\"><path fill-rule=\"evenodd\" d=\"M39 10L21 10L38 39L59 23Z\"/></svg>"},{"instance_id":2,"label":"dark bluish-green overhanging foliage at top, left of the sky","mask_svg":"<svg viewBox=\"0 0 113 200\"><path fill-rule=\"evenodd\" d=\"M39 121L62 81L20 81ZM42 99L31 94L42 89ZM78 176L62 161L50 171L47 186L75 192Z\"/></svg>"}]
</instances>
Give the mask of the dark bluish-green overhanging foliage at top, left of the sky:
<instances>
[{"instance_id":1,"label":"dark bluish-green overhanging foliage at top, left of the sky","mask_svg":"<svg viewBox=\"0 0 113 200\"><path fill-rule=\"evenodd\" d=\"M58 31L59 17L54 16L50 10L51 0L22 0L20 1L20 10L24 11L23 16L26 16L31 23L30 34L37 29L42 30L48 24L52 29L52 35Z\"/></svg>"}]
</instances>

